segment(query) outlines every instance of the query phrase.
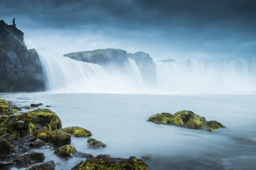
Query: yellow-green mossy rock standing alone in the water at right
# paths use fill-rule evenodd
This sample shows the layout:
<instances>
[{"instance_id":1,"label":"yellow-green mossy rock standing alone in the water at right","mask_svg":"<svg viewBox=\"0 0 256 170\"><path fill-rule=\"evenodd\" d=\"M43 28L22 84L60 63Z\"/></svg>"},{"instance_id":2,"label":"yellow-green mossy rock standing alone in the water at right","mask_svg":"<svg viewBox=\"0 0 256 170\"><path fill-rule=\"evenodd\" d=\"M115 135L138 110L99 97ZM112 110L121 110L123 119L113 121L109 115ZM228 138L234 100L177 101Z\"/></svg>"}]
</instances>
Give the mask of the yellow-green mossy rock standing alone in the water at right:
<instances>
[{"instance_id":1,"label":"yellow-green mossy rock standing alone in the water at right","mask_svg":"<svg viewBox=\"0 0 256 170\"><path fill-rule=\"evenodd\" d=\"M196 115L192 111L178 111L175 114L159 113L149 118L150 122L164 125L177 125L191 129L203 129L213 131L219 128L225 128L217 121L206 121L206 118Z\"/></svg>"}]
</instances>

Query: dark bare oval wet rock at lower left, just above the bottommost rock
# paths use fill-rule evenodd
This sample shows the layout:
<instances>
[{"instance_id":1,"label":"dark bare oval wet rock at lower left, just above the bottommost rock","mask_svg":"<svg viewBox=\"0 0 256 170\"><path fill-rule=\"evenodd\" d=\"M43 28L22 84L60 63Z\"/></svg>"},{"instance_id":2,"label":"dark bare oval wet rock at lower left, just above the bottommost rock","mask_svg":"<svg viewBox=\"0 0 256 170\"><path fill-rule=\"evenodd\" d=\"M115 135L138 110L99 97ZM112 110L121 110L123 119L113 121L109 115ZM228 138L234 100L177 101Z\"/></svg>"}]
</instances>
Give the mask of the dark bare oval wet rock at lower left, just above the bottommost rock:
<instances>
[{"instance_id":1,"label":"dark bare oval wet rock at lower left, just above the bottommost rock","mask_svg":"<svg viewBox=\"0 0 256 170\"><path fill-rule=\"evenodd\" d=\"M34 152L31 154L22 155L21 157L17 157L16 159L14 159L14 162L16 165L22 166L28 164L36 164L38 162L44 162L45 159L46 157L43 153Z\"/></svg>"}]
</instances>

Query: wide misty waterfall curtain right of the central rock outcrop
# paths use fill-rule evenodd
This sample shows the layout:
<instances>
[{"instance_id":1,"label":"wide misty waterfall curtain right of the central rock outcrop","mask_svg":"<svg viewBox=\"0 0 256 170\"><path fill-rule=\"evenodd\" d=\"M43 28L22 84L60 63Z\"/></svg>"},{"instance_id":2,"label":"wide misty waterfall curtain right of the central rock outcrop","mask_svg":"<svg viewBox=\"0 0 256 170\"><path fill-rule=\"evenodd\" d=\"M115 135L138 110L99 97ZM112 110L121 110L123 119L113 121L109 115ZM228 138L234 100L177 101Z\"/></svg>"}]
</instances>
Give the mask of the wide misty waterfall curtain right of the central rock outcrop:
<instances>
[{"instance_id":1,"label":"wide misty waterfall curtain right of the central rock outcrop","mask_svg":"<svg viewBox=\"0 0 256 170\"><path fill-rule=\"evenodd\" d=\"M156 86L172 91L256 91L256 59L156 62Z\"/></svg>"}]
</instances>

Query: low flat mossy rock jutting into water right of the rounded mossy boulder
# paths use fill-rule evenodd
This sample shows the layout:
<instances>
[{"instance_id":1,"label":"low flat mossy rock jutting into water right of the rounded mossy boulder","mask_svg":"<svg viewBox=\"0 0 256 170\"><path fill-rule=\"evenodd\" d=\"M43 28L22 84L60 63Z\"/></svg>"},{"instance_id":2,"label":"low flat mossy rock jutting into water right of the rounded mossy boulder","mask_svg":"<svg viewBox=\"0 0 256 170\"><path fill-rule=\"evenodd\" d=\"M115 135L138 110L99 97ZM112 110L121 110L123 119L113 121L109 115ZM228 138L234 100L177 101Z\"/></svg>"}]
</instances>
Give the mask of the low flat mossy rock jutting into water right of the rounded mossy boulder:
<instances>
[{"instance_id":1,"label":"low flat mossy rock jutting into water right of the rounded mossy boulder","mask_svg":"<svg viewBox=\"0 0 256 170\"><path fill-rule=\"evenodd\" d=\"M70 135L73 135L75 137L89 137L89 136L92 136L92 132L90 132L90 130L80 128L78 126L70 126L70 127L62 128L62 129L55 130L55 131L67 132Z\"/></svg>"}]
</instances>

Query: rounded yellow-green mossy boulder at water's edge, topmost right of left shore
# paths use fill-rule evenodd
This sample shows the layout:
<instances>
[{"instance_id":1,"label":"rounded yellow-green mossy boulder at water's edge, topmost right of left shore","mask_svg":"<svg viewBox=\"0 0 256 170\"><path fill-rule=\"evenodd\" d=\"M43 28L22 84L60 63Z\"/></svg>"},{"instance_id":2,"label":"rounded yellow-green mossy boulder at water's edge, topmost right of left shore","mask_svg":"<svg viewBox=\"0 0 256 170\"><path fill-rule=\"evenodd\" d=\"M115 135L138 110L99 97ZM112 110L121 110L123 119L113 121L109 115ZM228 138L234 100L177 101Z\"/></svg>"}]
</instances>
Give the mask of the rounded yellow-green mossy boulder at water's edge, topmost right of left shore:
<instances>
[{"instance_id":1,"label":"rounded yellow-green mossy boulder at water's edge, topmost right of left shore","mask_svg":"<svg viewBox=\"0 0 256 170\"><path fill-rule=\"evenodd\" d=\"M34 111L28 112L29 118L33 121L36 130L47 129L47 130L56 130L62 128L61 120L50 109L38 108Z\"/></svg>"}]
</instances>

